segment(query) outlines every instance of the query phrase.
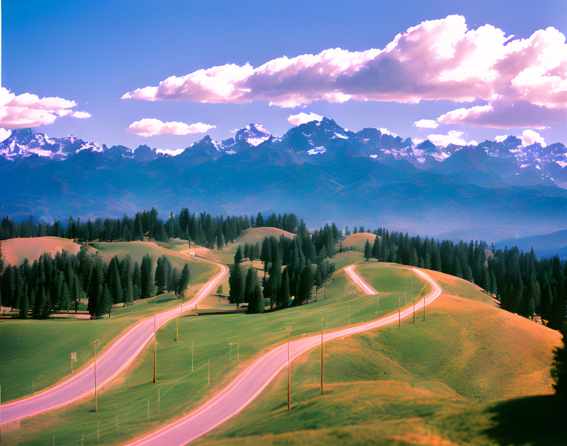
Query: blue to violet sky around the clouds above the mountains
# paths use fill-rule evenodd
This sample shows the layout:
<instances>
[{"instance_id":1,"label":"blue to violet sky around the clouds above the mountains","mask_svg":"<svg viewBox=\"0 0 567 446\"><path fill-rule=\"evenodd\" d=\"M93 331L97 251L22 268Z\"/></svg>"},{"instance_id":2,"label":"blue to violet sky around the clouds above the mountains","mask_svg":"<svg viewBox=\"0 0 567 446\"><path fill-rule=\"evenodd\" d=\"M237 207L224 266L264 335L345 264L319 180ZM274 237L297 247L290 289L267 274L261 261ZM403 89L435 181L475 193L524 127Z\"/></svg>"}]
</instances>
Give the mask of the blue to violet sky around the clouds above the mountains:
<instances>
[{"instance_id":1,"label":"blue to violet sky around the clouds above the mountains","mask_svg":"<svg viewBox=\"0 0 567 446\"><path fill-rule=\"evenodd\" d=\"M191 100L120 99L126 92L157 86L171 75L183 76L213 66L249 62L260 66L274 58L318 54L328 48L383 49L397 33L424 20L459 14L467 27L491 24L514 39L555 27L567 32L567 2L172 2L172 1L3 1L2 87L77 102L74 110L91 117L58 117L37 130L48 136L75 134L99 144L163 149L184 148L204 133L142 137L125 131L133 121L197 122L215 125L213 139L248 123L263 124L274 134L291 124L287 117L314 112L342 127L387 128L402 137L463 132L466 141L521 134L532 127L501 129L441 124L435 130L414 121L435 119L485 100L456 103L447 99L419 103L314 100L304 107L250 103L200 103ZM555 110L556 111L556 110ZM545 142L567 142L565 125L550 122L538 129Z\"/></svg>"}]
</instances>

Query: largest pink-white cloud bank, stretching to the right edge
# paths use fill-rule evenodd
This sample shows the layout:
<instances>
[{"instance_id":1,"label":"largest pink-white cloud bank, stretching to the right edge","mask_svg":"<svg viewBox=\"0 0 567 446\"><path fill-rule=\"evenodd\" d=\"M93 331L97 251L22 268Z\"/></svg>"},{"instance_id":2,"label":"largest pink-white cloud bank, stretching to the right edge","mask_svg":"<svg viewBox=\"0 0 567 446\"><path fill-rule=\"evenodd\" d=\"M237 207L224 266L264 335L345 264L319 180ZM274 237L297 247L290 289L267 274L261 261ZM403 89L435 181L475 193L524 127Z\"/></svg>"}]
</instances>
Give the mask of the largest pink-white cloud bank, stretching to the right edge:
<instances>
[{"instance_id":1,"label":"largest pink-white cloud bank, stretching to the right edge","mask_svg":"<svg viewBox=\"0 0 567 446\"><path fill-rule=\"evenodd\" d=\"M383 49L350 52L341 48L319 54L279 57L253 67L227 64L185 76L171 76L127 92L124 99L249 103L265 100L295 107L316 100L374 100L416 103L422 99L472 102L500 100L513 107L525 102L546 110L567 107L565 36L547 28L528 39L510 40L485 25L468 30L463 16L428 20L396 35ZM488 104L496 110L494 104ZM486 125L490 110L473 107L461 117ZM532 109L530 112L535 112ZM528 113L529 114L529 113ZM458 121L459 113L451 119ZM504 116L493 112L494 119ZM449 117L446 117L449 120ZM512 121L512 118L507 121ZM523 124L527 119L521 119ZM488 127L514 127L515 123Z\"/></svg>"}]
</instances>

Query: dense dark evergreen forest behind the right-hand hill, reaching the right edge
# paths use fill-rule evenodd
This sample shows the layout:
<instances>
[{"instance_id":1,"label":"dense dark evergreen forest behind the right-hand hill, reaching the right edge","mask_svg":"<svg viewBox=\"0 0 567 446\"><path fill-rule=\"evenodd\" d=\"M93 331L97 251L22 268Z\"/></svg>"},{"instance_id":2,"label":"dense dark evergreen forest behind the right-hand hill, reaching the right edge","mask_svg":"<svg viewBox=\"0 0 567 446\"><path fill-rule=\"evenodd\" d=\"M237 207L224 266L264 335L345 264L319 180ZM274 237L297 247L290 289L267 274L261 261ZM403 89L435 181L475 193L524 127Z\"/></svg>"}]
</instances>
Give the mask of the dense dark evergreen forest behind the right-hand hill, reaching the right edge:
<instances>
[{"instance_id":1,"label":"dense dark evergreen forest behind the right-hand hill, reaching the right edge","mask_svg":"<svg viewBox=\"0 0 567 446\"><path fill-rule=\"evenodd\" d=\"M493 250L487 260L487 247L486 242L454 243L378 229L369 233L364 255L462 277L496 294L503 309L524 317L541 314L559 328L567 304L567 262L557 256L537 259L534 250L523 253L517 247Z\"/></svg>"}]
</instances>

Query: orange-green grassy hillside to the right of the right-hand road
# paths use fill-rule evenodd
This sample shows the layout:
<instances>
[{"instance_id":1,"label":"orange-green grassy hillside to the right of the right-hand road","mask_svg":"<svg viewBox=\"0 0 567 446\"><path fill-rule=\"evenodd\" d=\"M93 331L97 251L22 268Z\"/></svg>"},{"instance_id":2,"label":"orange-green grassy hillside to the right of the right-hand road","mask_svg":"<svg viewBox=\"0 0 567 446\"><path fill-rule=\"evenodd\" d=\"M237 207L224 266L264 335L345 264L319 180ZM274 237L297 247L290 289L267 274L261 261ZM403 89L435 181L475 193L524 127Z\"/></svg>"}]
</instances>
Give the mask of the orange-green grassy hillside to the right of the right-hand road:
<instances>
[{"instance_id":1,"label":"orange-green grassy hillside to the right of the right-hand road","mask_svg":"<svg viewBox=\"0 0 567 446\"><path fill-rule=\"evenodd\" d=\"M481 294L466 281L454 287ZM552 392L559 341L547 327L446 293L428 306L426 322L325 344L324 395L315 349L292 364L290 412L284 371L197 444L559 444L564 434L545 419L558 421L556 398L525 398ZM541 429L519 434L518 416Z\"/></svg>"}]
</instances>

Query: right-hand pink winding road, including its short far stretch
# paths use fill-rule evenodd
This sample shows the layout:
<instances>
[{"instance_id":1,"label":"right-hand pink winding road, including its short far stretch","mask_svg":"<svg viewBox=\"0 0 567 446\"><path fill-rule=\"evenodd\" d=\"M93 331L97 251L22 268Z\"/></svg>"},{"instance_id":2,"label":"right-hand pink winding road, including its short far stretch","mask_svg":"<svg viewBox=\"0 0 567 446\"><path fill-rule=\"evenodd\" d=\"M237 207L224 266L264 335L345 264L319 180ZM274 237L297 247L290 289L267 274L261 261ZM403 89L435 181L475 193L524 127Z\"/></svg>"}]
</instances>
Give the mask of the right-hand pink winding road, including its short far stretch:
<instances>
[{"instance_id":1,"label":"right-hand pink winding road, including its short far stretch","mask_svg":"<svg viewBox=\"0 0 567 446\"><path fill-rule=\"evenodd\" d=\"M377 294L374 288L362 279L356 271L350 268L355 280L365 293ZM424 271L412 268L414 274L420 279L425 280L431 285L431 292L422 300L417 302L416 308L422 308L433 302L439 294L441 287L431 276ZM349 272L347 272L350 277ZM413 306L401 312L401 317L407 317L413 312ZM344 336L361 333L362 331L376 329L393 322L397 322L398 314L393 313L373 322L366 322L359 325L346 327L336 331L323 334L323 342L333 339L343 338ZM321 336L312 335L306 338L293 340L290 342L290 360L294 360L304 352L320 345ZM227 419L238 414L244 407L251 403L276 377L276 375L287 365L287 344L283 344L274 350L259 357L255 362L248 366L238 377L227 385L220 393L211 398L204 405L194 410L192 413L153 432L139 440L129 443L128 446L167 444L168 446L181 446L197 439L210 430L222 424Z\"/></svg>"}]
</instances>

